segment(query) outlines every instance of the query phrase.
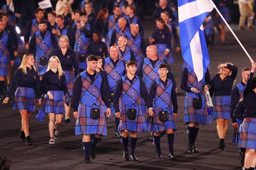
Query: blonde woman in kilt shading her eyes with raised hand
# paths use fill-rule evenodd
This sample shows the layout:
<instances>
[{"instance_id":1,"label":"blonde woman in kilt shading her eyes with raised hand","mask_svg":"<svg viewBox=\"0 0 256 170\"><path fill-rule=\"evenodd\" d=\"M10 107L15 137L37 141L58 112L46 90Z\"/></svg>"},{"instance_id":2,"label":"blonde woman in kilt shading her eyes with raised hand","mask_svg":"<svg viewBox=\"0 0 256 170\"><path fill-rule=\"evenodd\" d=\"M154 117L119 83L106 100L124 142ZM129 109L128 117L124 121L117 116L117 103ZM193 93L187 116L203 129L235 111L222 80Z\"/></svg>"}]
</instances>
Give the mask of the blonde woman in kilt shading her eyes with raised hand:
<instances>
[{"instance_id":1,"label":"blonde woman in kilt shading her eyes with raised hand","mask_svg":"<svg viewBox=\"0 0 256 170\"><path fill-rule=\"evenodd\" d=\"M219 148L224 150L224 137L230 119L231 92L234 80L237 75L237 67L232 63L219 64L220 71L212 78L210 95L213 95L212 119L216 119L217 132L219 135Z\"/></svg>"}]
</instances>

